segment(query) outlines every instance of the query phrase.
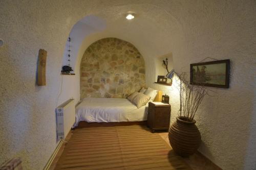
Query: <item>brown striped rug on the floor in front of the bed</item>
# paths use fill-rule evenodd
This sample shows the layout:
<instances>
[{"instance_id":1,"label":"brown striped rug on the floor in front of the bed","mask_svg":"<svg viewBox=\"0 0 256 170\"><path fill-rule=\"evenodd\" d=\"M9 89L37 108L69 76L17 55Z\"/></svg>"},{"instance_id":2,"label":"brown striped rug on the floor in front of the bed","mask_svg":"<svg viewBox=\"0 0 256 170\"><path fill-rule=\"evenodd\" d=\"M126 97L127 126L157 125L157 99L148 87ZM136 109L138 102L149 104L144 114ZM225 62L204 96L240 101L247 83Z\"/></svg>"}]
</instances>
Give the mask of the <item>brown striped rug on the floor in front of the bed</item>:
<instances>
[{"instance_id":1,"label":"brown striped rug on the floor in front of the bed","mask_svg":"<svg viewBox=\"0 0 256 170\"><path fill-rule=\"evenodd\" d=\"M55 169L191 169L145 126L75 129Z\"/></svg>"}]
</instances>

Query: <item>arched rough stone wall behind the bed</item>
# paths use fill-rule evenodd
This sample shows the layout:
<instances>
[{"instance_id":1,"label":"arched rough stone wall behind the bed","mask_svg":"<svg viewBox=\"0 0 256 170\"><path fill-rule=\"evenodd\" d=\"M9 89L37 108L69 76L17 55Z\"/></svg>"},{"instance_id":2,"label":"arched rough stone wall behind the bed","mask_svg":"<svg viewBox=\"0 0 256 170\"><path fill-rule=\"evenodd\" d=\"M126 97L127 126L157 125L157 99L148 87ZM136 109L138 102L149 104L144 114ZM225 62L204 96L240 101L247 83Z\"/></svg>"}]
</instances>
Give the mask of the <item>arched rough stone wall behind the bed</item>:
<instances>
[{"instance_id":1,"label":"arched rough stone wall behind the bed","mask_svg":"<svg viewBox=\"0 0 256 170\"><path fill-rule=\"evenodd\" d=\"M126 98L145 86L145 64L137 48L117 38L91 44L81 60L80 96Z\"/></svg>"}]
</instances>

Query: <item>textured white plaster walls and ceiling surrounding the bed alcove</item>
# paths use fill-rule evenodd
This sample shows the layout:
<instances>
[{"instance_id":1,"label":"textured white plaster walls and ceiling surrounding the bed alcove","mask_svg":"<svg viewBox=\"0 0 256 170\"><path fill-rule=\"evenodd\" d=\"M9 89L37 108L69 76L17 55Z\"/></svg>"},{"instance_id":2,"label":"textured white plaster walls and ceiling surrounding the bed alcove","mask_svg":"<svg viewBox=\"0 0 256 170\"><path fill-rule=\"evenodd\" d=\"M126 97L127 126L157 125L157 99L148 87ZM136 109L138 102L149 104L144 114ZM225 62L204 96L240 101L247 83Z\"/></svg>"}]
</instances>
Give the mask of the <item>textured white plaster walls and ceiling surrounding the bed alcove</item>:
<instances>
[{"instance_id":1,"label":"textured white plaster walls and ceiling surrounding the bed alcove","mask_svg":"<svg viewBox=\"0 0 256 170\"><path fill-rule=\"evenodd\" d=\"M78 20L93 14L107 27L82 41L76 65L100 38L131 42L145 59L147 85L171 96L172 120L179 95L175 84L153 83L155 58L172 53L178 72L205 57L229 58L230 88L212 88L215 96L204 101L196 117L200 151L223 169L255 169L255 7L253 0L0 1L0 38L5 41L0 47L0 164L20 156L25 169L42 169L49 159L56 147L54 109L66 40ZM124 20L127 11L137 12L137 18ZM47 86L42 87L35 85L39 48L48 51ZM70 82L78 78L79 73Z\"/></svg>"}]
</instances>

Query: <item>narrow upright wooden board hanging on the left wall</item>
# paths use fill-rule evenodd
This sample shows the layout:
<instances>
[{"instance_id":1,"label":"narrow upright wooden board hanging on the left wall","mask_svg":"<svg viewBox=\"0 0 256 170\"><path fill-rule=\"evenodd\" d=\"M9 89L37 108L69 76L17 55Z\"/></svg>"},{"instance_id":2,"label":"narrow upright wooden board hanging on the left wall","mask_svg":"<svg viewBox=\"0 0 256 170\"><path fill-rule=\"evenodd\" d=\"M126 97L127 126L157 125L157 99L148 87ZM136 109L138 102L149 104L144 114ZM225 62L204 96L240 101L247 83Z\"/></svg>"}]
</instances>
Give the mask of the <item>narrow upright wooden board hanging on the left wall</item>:
<instances>
[{"instance_id":1,"label":"narrow upright wooden board hanging on the left wall","mask_svg":"<svg viewBox=\"0 0 256 170\"><path fill-rule=\"evenodd\" d=\"M37 64L37 85L46 85L46 57L47 51L40 49L38 54L38 64Z\"/></svg>"}]
</instances>

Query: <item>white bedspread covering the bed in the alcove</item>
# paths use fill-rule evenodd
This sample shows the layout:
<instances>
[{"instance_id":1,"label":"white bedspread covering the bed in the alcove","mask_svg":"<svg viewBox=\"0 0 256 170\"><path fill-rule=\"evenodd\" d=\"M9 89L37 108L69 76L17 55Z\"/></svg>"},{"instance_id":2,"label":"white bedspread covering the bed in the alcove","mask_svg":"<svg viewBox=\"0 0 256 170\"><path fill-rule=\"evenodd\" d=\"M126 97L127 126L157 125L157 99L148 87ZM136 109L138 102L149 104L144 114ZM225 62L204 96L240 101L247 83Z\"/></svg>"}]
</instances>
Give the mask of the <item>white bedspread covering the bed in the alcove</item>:
<instances>
[{"instance_id":1,"label":"white bedspread covering the bed in the alcove","mask_svg":"<svg viewBox=\"0 0 256 170\"><path fill-rule=\"evenodd\" d=\"M127 99L84 98L76 107L76 127L86 122L134 122L147 119L148 104L137 108Z\"/></svg>"}]
</instances>

